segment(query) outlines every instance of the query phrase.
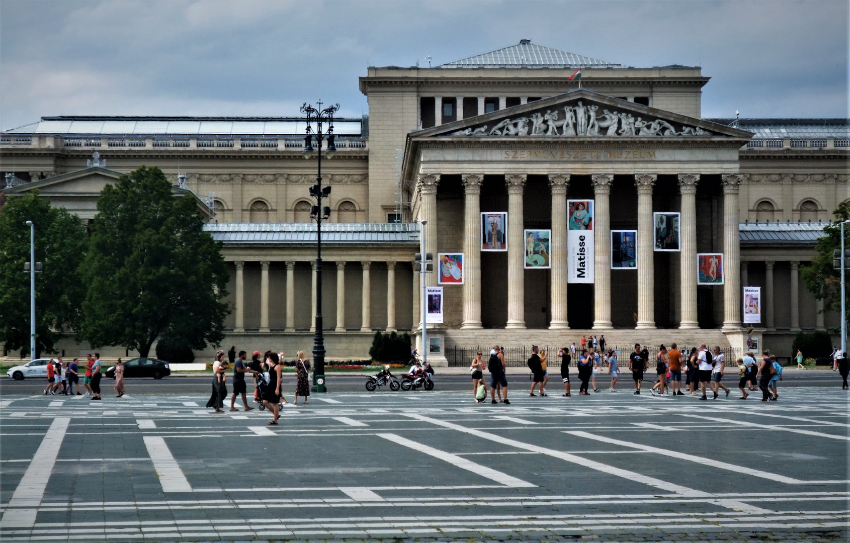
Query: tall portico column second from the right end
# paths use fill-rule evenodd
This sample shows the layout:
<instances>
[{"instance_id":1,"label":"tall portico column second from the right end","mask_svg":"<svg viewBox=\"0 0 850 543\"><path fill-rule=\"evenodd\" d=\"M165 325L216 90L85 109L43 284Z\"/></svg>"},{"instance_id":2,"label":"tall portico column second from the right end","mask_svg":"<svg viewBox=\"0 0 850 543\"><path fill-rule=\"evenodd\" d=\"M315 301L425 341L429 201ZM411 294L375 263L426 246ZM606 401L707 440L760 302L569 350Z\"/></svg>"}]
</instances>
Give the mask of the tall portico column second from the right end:
<instances>
[{"instance_id":1,"label":"tall portico column second from the right end","mask_svg":"<svg viewBox=\"0 0 850 543\"><path fill-rule=\"evenodd\" d=\"M682 213L679 253L679 283L682 294L679 328L693 330L700 324L696 318L696 186L700 176L696 173L679 174L679 192L682 193Z\"/></svg>"}]
</instances>

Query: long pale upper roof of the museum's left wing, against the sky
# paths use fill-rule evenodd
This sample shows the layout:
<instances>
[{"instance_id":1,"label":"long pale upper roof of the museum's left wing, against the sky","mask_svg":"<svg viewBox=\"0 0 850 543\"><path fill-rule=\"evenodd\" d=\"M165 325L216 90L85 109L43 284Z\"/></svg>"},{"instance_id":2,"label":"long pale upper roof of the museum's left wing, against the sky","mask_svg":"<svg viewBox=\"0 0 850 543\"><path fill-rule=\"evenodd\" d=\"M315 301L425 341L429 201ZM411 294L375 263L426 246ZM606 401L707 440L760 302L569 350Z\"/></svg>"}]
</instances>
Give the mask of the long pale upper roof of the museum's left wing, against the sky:
<instances>
[{"instance_id":1,"label":"long pale upper roof of the museum's left wing, against the sky","mask_svg":"<svg viewBox=\"0 0 850 543\"><path fill-rule=\"evenodd\" d=\"M340 117L334 119L333 132L360 136L364 122L366 117ZM46 116L3 133L302 137L305 127L303 117Z\"/></svg>"}]
</instances>

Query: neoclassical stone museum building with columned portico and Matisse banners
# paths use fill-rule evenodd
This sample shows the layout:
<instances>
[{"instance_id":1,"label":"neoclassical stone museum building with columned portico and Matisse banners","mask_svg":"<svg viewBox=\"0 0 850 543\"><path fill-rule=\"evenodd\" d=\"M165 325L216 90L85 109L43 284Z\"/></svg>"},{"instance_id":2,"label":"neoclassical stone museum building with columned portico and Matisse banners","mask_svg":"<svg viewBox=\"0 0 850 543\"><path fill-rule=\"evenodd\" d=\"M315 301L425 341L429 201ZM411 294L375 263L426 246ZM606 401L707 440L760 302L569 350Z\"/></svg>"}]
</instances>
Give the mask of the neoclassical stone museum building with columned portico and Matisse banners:
<instances>
[{"instance_id":1,"label":"neoclassical stone museum building with columned portico and Matisse banners","mask_svg":"<svg viewBox=\"0 0 850 543\"><path fill-rule=\"evenodd\" d=\"M635 68L529 40L368 68L369 114L337 119L322 161L328 358L368 358L377 330L421 331L422 241L438 363L592 335L738 352L750 338L787 357L797 331L836 328L799 272L850 198L850 121L706 119L709 81L696 66ZM225 347L309 351L316 157L304 129L296 116L44 116L2 133L3 193L39 189L86 221L105 184L161 167L223 244Z\"/></svg>"}]
</instances>

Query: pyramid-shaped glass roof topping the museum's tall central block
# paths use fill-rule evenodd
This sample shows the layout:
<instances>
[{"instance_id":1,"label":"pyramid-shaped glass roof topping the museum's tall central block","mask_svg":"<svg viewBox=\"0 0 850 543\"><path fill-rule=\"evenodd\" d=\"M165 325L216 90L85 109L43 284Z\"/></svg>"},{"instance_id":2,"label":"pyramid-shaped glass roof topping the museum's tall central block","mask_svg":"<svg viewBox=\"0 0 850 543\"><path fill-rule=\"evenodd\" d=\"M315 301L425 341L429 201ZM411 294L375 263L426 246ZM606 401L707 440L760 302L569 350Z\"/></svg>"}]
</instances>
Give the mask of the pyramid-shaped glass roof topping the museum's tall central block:
<instances>
[{"instance_id":1,"label":"pyramid-shaped glass roof topping the museum's tall central block","mask_svg":"<svg viewBox=\"0 0 850 543\"><path fill-rule=\"evenodd\" d=\"M619 68L608 60L592 59L581 54L568 53L520 40L517 45L477 54L466 59L446 62L437 68Z\"/></svg>"}]
</instances>

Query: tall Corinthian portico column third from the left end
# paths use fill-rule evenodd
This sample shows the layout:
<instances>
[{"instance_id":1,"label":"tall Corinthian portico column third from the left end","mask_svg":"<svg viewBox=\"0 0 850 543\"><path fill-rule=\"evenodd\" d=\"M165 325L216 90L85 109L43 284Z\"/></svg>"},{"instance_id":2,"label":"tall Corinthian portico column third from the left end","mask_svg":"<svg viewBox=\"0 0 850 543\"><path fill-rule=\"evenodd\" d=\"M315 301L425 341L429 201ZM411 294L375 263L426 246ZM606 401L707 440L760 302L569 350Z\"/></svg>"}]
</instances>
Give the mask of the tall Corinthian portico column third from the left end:
<instances>
[{"instance_id":1,"label":"tall Corinthian portico column third from the left end","mask_svg":"<svg viewBox=\"0 0 850 543\"><path fill-rule=\"evenodd\" d=\"M505 176L507 185L507 325L525 328L525 285L523 242L524 173Z\"/></svg>"}]
</instances>

